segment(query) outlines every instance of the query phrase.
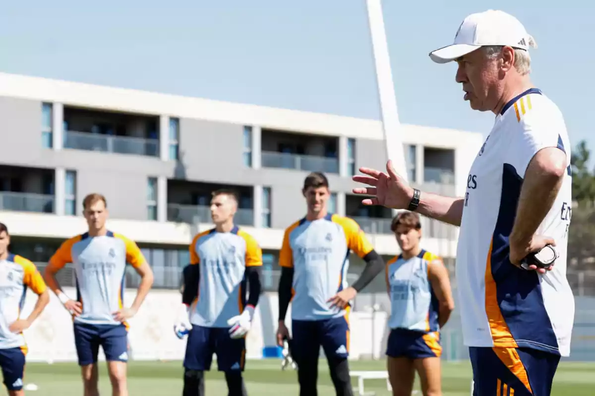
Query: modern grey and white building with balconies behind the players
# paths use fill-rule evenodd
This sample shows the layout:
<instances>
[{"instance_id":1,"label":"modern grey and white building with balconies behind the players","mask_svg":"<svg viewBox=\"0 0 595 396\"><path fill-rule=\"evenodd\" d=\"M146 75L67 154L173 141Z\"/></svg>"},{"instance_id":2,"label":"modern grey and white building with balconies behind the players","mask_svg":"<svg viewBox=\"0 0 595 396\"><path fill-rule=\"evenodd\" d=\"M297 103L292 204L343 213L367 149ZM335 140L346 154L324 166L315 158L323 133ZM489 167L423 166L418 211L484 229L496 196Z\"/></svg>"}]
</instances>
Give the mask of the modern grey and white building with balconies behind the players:
<instances>
[{"instance_id":1,"label":"modern grey and white building with balconies behind the players","mask_svg":"<svg viewBox=\"0 0 595 396\"><path fill-rule=\"evenodd\" d=\"M335 213L358 221L380 254L398 252L391 211L351 194L358 167L384 169L379 121L0 73L0 131L0 221L12 250L37 262L84 232L82 199L99 192L109 227L136 240L154 266L155 286L177 287L188 243L210 227L211 191L233 188L237 223L273 271L315 170L330 180ZM414 185L464 194L481 134L413 125L399 133ZM427 249L452 258L455 227L423 226Z\"/></svg>"}]
</instances>

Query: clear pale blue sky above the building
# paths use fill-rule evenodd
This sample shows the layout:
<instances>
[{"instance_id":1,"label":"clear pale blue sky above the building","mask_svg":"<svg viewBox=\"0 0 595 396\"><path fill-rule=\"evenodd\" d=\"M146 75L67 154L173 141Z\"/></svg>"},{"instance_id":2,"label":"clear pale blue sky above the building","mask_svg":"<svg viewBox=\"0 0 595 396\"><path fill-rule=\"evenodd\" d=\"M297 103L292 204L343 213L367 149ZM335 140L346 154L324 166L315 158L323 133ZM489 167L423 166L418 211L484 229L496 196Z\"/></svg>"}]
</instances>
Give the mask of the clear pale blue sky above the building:
<instances>
[{"instance_id":1,"label":"clear pale blue sky above the building","mask_svg":"<svg viewBox=\"0 0 595 396\"><path fill-rule=\"evenodd\" d=\"M383 1L401 122L490 130L493 115L462 100L456 66L428 58L467 14L487 8ZM533 81L562 109L572 144L595 147L595 6L501 0L497 8L535 37ZM0 48L5 72L380 118L365 0L7 2Z\"/></svg>"}]
</instances>

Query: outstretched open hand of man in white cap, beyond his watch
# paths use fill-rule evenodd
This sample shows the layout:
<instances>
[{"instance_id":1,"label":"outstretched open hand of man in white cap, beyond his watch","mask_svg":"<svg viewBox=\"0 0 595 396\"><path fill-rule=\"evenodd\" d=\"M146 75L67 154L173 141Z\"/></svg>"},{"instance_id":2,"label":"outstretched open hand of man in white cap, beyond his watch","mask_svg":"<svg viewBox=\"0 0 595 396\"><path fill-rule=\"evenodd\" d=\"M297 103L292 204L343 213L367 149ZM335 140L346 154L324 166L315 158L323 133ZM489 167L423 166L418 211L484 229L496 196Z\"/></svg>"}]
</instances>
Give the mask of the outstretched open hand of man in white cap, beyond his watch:
<instances>
[{"instance_id":1,"label":"outstretched open hand of man in white cap, beyond his watch","mask_svg":"<svg viewBox=\"0 0 595 396\"><path fill-rule=\"evenodd\" d=\"M406 209L413 198L413 189L405 183L394 170L391 160L386 163L386 172L359 168L359 172L367 176L353 176L353 181L367 184L370 187L354 188L353 193L358 195L372 195L372 198L362 200L364 205L382 205L393 209Z\"/></svg>"}]
</instances>

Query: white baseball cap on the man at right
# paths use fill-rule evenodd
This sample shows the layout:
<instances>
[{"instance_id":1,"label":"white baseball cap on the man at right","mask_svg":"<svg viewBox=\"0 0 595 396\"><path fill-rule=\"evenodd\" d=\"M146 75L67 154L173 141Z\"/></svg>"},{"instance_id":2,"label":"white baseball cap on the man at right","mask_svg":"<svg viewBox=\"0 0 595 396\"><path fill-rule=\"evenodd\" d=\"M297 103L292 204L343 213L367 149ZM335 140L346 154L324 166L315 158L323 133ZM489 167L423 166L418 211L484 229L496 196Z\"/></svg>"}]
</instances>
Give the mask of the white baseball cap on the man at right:
<instances>
[{"instance_id":1,"label":"white baseball cap on the man at right","mask_svg":"<svg viewBox=\"0 0 595 396\"><path fill-rule=\"evenodd\" d=\"M488 9L465 18L455 35L455 42L430 52L430 58L439 64L454 61L483 46L511 46L528 50L537 48L533 37L522 23L504 11Z\"/></svg>"}]
</instances>

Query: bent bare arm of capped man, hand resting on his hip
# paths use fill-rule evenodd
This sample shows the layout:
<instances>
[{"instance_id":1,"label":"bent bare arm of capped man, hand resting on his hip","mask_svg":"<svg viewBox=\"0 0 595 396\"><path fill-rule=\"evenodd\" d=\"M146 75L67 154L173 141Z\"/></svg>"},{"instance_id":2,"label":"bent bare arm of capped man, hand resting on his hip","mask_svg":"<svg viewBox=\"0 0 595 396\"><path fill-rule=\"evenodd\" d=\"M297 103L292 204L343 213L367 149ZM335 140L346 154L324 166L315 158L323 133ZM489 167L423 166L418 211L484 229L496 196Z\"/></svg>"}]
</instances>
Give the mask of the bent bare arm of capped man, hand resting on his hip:
<instances>
[{"instance_id":1,"label":"bent bare arm of capped man, hand resting on his hip","mask_svg":"<svg viewBox=\"0 0 595 396\"><path fill-rule=\"evenodd\" d=\"M552 208L566 173L566 154L557 147L538 151L531 159L521 187L515 223L509 237L510 260L518 264L528 253L555 241L536 236L537 228ZM539 199L535 199L539 197ZM531 266L536 270L535 266ZM551 269L551 268L550 268ZM540 273L546 270L539 268Z\"/></svg>"}]
</instances>

